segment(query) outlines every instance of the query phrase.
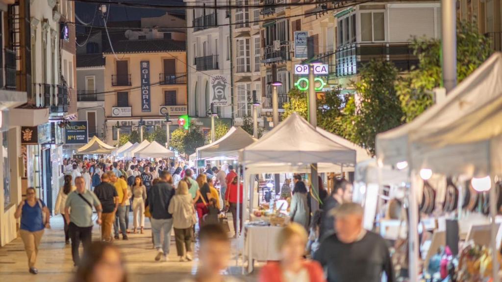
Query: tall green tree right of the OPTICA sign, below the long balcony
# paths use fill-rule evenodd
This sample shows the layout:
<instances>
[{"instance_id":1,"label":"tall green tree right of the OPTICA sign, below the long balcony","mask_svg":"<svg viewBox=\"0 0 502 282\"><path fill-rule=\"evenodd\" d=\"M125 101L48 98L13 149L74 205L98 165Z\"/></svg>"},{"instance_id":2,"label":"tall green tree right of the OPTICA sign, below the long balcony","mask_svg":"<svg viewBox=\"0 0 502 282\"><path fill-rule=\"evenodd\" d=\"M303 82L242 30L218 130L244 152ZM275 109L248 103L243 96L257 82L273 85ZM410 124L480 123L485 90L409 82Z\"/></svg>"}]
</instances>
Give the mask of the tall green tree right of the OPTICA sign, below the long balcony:
<instances>
[{"instance_id":1,"label":"tall green tree right of the OPTICA sign, below the long balcony","mask_svg":"<svg viewBox=\"0 0 502 282\"><path fill-rule=\"evenodd\" d=\"M372 60L360 69L360 79L353 83L357 98L349 101L355 114L346 120L349 123L346 129L351 132L347 136L371 155L375 154L376 134L402 122L403 111L394 88L397 78L398 70L393 63Z\"/></svg>"}]
</instances>

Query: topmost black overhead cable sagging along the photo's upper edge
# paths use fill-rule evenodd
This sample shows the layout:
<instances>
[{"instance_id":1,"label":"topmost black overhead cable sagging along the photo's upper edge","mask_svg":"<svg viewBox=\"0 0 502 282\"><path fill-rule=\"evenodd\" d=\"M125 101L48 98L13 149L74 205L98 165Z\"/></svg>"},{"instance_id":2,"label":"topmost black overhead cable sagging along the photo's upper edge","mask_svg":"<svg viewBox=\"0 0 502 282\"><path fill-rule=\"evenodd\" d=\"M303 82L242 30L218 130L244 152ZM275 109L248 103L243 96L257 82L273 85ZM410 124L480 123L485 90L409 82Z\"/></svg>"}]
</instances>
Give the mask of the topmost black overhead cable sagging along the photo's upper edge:
<instances>
[{"instance_id":1,"label":"topmost black overhead cable sagging along the photo's upper edge","mask_svg":"<svg viewBox=\"0 0 502 282\"><path fill-rule=\"evenodd\" d=\"M157 5L157 4L140 4L140 3L127 3L122 1L107 1L104 2L102 0L69 0L73 2L83 2L83 3L95 3L95 4L106 4L113 6L126 6L126 7L134 7L134 8L147 8L147 9L216 9L216 10L228 10L228 9L243 9L243 8L252 8L252 9L264 9L264 8L282 8L282 7L302 7L302 6L314 6L314 5L327 5L332 4L333 1L325 0L325 1L316 1L315 3L274 3L274 4L254 4L254 5L222 5L222 6L209 6L209 5ZM190 2L196 3L196 2Z\"/></svg>"}]
</instances>

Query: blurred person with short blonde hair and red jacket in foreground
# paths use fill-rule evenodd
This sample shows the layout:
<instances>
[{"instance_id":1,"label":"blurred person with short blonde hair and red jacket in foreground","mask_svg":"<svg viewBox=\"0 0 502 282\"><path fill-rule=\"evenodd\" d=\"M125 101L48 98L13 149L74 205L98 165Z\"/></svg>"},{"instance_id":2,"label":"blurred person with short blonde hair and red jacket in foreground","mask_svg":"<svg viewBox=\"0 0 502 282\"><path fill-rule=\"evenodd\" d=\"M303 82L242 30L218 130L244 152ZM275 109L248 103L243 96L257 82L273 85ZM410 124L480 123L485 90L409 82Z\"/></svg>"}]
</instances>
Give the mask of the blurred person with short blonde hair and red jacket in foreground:
<instances>
[{"instance_id":1,"label":"blurred person with short blonde hair and red jacket in foreground","mask_svg":"<svg viewBox=\"0 0 502 282\"><path fill-rule=\"evenodd\" d=\"M325 282L321 264L303 258L307 240L307 231L302 225L293 222L284 227L277 236L281 261L265 265L259 282Z\"/></svg>"}]
</instances>

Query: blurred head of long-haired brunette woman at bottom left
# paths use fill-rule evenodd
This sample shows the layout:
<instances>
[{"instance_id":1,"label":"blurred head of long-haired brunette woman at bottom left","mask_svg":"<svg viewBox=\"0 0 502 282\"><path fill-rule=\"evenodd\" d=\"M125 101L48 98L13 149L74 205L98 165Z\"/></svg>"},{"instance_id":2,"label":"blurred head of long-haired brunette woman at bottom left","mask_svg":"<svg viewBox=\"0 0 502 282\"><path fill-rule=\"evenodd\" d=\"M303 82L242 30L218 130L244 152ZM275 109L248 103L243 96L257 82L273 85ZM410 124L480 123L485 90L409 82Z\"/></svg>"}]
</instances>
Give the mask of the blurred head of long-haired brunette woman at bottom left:
<instances>
[{"instance_id":1,"label":"blurred head of long-haired brunette woman at bottom left","mask_svg":"<svg viewBox=\"0 0 502 282\"><path fill-rule=\"evenodd\" d=\"M84 253L73 282L127 282L118 247L106 242L93 242Z\"/></svg>"}]
</instances>

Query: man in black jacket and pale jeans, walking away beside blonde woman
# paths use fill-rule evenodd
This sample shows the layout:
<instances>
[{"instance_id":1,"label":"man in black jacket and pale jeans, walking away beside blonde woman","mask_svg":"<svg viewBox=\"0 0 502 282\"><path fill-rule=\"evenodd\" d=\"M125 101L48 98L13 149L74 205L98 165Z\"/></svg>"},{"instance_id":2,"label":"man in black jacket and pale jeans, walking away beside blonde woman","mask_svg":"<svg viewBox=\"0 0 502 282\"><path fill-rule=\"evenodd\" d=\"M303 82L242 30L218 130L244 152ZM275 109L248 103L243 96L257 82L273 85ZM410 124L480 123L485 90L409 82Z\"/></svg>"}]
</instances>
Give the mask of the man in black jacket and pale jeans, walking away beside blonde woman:
<instances>
[{"instance_id":1,"label":"man in black jacket and pale jeans, walking away beside blonde woman","mask_svg":"<svg viewBox=\"0 0 502 282\"><path fill-rule=\"evenodd\" d=\"M148 191L149 209L152 214L152 232L154 245L157 249L155 260L164 258L167 261L169 244L171 241L171 229L173 228L173 216L167 212L169 202L174 196L172 177L167 171L160 175L160 181ZM164 231L164 242L161 242L160 232Z\"/></svg>"}]
</instances>

